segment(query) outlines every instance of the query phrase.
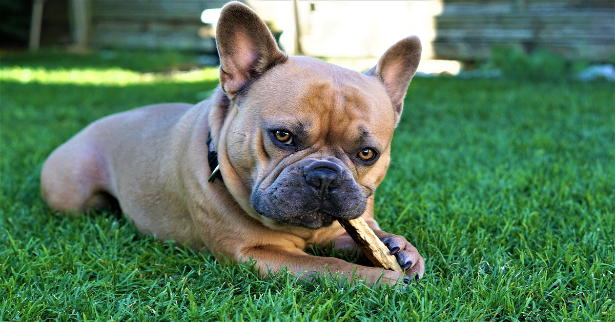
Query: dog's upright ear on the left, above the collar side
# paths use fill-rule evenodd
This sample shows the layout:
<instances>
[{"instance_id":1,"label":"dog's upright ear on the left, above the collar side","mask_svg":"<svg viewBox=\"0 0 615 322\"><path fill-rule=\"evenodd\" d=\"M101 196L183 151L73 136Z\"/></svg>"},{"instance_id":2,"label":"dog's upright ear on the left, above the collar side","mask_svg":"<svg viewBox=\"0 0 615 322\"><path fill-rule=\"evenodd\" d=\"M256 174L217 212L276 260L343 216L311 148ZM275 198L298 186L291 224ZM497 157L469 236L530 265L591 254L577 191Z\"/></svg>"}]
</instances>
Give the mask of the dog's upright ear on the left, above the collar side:
<instances>
[{"instance_id":1,"label":"dog's upright ear on the left, above the collar side","mask_svg":"<svg viewBox=\"0 0 615 322\"><path fill-rule=\"evenodd\" d=\"M222 8L216 44L220 85L231 100L260 74L287 59L263 20L241 2L229 2Z\"/></svg>"}]
</instances>

